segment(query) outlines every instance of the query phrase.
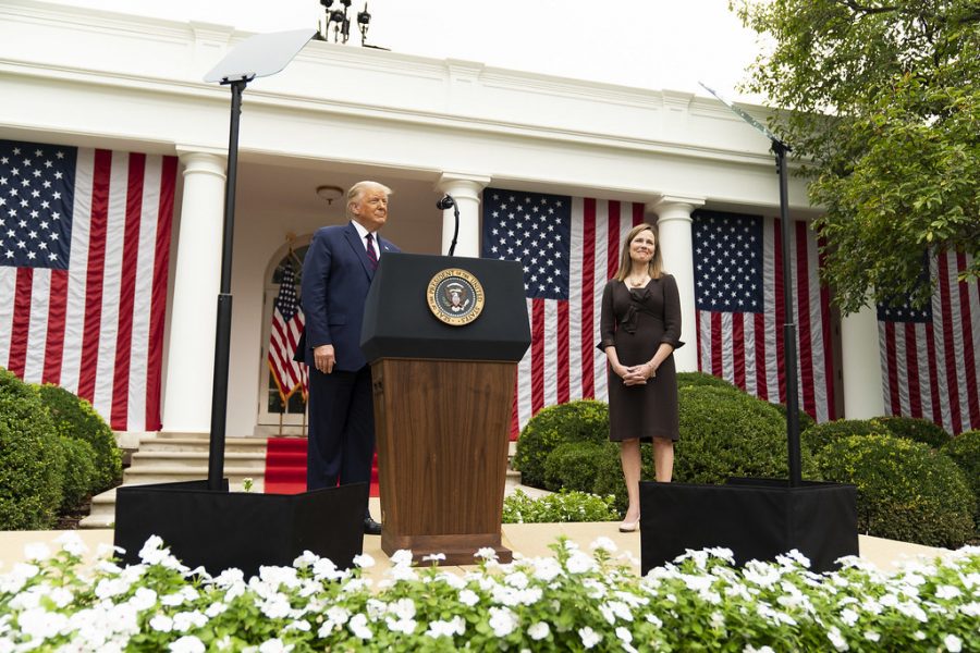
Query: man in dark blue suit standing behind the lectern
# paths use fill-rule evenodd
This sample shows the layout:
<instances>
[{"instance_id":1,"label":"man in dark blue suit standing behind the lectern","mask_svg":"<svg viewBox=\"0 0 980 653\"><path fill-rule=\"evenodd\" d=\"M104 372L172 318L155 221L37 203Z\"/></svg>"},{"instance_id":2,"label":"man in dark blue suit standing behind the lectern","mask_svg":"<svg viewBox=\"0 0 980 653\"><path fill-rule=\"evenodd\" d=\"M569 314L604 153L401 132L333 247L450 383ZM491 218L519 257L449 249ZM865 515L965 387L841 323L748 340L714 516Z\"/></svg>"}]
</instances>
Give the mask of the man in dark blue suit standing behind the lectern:
<instances>
[{"instance_id":1,"label":"man in dark blue suit standing behind the lectern","mask_svg":"<svg viewBox=\"0 0 980 653\"><path fill-rule=\"evenodd\" d=\"M378 231L388 220L391 189L360 182L347 192L343 226L317 231L303 261L306 318L303 358L309 367L308 490L370 482L375 453L371 368L360 350L360 325L378 259L399 251ZM381 525L364 507L364 532Z\"/></svg>"}]
</instances>

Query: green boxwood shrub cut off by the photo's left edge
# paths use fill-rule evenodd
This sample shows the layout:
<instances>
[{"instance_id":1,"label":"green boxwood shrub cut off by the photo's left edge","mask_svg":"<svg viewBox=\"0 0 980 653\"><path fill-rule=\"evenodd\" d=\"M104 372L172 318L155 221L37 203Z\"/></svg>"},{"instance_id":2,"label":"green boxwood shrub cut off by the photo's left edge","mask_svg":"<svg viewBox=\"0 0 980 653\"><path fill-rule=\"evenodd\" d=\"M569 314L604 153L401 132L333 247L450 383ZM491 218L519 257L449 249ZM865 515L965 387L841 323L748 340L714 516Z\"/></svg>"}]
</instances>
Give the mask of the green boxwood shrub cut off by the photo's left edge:
<instances>
[{"instance_id":1,"label":"green boxwood shrub cut off by the photo's left edge","mask_svg":"<svg viewBox=\"0 0 980 653\"><path fill-rule=\"evenodd\" d=\"M37 390L0 369L0 529L50 528L62 468L61 441Z\"/></svg>"}]
</instances>

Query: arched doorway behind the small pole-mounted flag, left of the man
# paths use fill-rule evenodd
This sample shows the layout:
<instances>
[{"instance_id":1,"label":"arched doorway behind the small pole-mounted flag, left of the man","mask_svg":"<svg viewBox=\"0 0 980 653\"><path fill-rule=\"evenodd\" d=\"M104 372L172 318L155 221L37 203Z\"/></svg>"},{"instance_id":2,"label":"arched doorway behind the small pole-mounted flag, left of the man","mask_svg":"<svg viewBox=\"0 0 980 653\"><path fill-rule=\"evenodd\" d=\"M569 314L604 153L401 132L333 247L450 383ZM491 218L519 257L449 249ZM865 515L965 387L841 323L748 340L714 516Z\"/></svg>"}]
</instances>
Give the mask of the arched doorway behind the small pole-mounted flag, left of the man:
<instances>
[{"instance_id":1,"label":"arched doorway behind the small pole-mounted flag, left of the man","mask_svg":"<svg viewBox=\"0 0 980 653\"><path fill-rule=\"evenodd\" d=\"M265 275L262 292L262 356L259 369L259 402L257 423L260 431L281 432L291 435L306 434L306 398L302 387L280 389L269 365L269 349L272 345L272 320L275 300L282 289L286 268L292 267L296 297L299 297L299 279L303 259L309 248L311 236L294 239L281 247L271 257ZM283 396L285 394L285 396ZM281 429L280 429L281 427Z\"/></svg>"}]
</instances>

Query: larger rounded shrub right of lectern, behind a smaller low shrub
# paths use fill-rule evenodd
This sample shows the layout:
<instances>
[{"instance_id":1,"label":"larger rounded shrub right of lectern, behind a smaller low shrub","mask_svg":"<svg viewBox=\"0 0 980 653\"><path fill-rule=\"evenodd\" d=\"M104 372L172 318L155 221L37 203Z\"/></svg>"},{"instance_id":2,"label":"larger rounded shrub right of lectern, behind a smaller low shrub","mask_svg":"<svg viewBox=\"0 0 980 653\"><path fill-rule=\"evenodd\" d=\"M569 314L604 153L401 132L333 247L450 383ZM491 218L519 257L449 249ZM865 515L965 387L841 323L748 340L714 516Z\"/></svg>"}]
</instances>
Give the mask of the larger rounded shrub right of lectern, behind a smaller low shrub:
<instances>
[{"instance_id":1,"label":"larger rounded shrub right of lectern, behind a smaller low shrub","mask_svg":"<svg viewBox=\"0 0 980 653\"><path fill-rule=\"evenodd\" d=\"M549 454L564 442L609 440L609 406L595 399L578 399L542 408L528 420L517 439L513 467L520 482L544 488L544 466Z\"/></svg>"}]
</instances>

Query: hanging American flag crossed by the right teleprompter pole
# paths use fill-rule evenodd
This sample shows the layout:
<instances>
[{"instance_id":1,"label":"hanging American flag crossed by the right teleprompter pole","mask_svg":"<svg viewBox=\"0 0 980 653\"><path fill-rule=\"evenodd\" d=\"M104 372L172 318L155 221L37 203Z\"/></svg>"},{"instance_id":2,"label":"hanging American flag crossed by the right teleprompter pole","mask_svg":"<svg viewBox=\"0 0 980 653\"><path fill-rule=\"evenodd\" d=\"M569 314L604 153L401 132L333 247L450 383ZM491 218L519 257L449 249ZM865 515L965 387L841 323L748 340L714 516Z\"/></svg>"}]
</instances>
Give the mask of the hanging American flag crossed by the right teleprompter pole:
<instances>
[{"instance_id":1,"label":"hanging American flag crossed by the right teleprompter pole","mask_svg":"<svg viewBox=\"0 0 980 653\"><path fill-rule=\"evenodd\" d=\"M698 211L694 215L698 369L749 394L786 402L783 360L783 252L780 221ZM818 421L835 419L830 294L817 272L817 239L793 223L799 407Z\"/></svg>"}]
</instances>

